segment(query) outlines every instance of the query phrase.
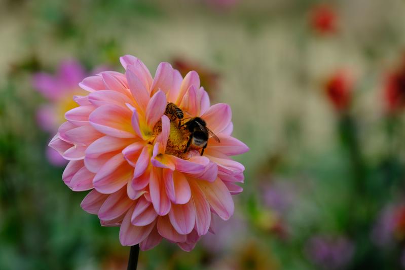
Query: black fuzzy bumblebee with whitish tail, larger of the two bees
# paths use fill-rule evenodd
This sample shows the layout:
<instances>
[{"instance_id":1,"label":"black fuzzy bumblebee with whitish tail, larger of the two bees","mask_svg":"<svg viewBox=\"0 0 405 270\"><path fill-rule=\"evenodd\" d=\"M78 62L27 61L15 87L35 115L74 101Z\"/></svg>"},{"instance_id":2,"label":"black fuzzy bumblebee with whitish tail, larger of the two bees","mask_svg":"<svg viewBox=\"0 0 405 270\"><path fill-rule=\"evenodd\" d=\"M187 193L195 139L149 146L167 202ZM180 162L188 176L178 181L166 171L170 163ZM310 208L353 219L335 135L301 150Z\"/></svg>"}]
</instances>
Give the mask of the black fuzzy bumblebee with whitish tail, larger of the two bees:
<instances>
[{"instance_id":1,"label":"black fuzzy bumblebee with whitish tail, larger of the two bees","mask_svg":"<svg viewBox=\"0 0 405 270\"><path fill-rule=\"evenodd\" d=\"M217 142L220 142L219 138L209 129L207 128L207 124L205 121L200 117L192 118L190 121L183 124L186 128L191 132L189 141L187 142L186 150L190 147L190 144L202 148L201 156L204 153L204 149L207 147L208 144L208 137L211 135Z\"/></svg>"}]
</instances>

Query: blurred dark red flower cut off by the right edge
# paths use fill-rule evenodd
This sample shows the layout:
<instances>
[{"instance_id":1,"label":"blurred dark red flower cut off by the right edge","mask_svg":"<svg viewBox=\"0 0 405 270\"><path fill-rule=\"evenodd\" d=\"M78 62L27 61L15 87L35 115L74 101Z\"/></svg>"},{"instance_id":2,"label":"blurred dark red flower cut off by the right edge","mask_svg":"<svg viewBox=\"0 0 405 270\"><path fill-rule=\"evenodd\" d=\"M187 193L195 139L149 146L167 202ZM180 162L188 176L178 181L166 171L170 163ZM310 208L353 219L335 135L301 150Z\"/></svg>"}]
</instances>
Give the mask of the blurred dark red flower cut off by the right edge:
<instances>
[{"instance_id":1,"label":"blurred dark red flower cut off by the right edge","mask_svg":"<svg viewBox=\"0 0 405 270\"><path fill-rule=\"evenodd\" d=\"M405 107L405 54L396 70L386 76L384 99L389 112Z\"/></svg>"}]
</instances>

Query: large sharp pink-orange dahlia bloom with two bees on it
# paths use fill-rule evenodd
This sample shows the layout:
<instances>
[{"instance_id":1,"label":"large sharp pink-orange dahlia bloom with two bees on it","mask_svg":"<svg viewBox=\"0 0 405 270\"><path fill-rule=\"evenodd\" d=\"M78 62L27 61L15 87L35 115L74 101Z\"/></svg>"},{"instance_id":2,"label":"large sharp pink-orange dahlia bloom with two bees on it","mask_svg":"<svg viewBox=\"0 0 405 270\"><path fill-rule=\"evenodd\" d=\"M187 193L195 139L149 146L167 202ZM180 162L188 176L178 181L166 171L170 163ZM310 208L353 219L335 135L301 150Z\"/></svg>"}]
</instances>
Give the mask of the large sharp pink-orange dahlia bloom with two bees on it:
<instances>
[{"instance_id":1,"label":"large sharp pink-orange dahlia bloom with two bees on it","mask_svg":"<svg viewBox=\"0 0 405 270\"><path fill-rule=\"evenodd\" d=\"M244 167L230 156L248 147L231 136L229 105L211 106L195 71L182 78L161 63L152 78L137 58L120 60L125 74L105 71L79 84L89 93L74 98L79 107L65 113L49 145L70 161L66 185L91 189L82 208L103 226L120 226L122 245L148 250L166 238L190 251L211 215L232 216ZM168 102L183 111L181 123ZM188 147L196 133L184 123L195 117L220 140L210 137L203 156L197 143Z\"/></svg>"}]
</instances>

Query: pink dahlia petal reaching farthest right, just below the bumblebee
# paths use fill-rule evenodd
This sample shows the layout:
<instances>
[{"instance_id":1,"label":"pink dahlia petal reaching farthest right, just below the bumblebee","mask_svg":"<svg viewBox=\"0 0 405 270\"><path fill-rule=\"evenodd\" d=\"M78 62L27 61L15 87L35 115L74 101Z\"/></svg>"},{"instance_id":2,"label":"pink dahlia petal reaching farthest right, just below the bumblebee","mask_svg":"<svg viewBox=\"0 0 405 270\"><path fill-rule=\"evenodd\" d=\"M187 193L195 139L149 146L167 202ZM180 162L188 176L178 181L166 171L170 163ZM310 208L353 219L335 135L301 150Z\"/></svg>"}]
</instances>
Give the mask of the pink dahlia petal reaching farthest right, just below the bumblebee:
<instances>
[{"instance_id":1,"label":"pink dahlia petal reaching farthest right, just below the bumblebee","mask_svg":"<svg viewBox=\"0 0 405 270\"><path fill-rule=\"evenodd\" d=\"M208 139L209 149L213 149L224 153L227 156L240 155L249 150L246 144L231 136L219 136L220 142L215 141L213 138Z\"/></svg>"}]
</instances>

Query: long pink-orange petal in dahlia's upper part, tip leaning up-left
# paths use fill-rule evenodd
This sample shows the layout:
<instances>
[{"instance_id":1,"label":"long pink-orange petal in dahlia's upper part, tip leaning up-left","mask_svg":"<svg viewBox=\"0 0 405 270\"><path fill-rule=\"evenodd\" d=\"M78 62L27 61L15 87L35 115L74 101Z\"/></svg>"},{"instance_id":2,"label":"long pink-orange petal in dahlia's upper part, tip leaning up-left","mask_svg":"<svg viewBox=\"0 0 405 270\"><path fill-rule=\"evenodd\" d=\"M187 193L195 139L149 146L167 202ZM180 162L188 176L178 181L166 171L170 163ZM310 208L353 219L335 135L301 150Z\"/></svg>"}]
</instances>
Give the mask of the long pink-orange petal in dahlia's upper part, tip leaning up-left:
<instances>
[{"instance_id":1,"label":"long pink-orange petal in dahlia's upper part, tip leaning up-left","mask_svg":"<svg viewBox=\"0 0 405 270\"><path fill-rule=\"evenodd\" d=\"M129 90L131 91L132 96L140 109L140 112L142 114L145 114L146 106L148 106L148 102L151 99L149 95L149 88L146 88L148 86L145 85L139 79L139 77L129 69L127 69L125 75L127 76Z\"/></svg>"}]
</instances>

